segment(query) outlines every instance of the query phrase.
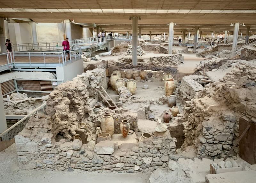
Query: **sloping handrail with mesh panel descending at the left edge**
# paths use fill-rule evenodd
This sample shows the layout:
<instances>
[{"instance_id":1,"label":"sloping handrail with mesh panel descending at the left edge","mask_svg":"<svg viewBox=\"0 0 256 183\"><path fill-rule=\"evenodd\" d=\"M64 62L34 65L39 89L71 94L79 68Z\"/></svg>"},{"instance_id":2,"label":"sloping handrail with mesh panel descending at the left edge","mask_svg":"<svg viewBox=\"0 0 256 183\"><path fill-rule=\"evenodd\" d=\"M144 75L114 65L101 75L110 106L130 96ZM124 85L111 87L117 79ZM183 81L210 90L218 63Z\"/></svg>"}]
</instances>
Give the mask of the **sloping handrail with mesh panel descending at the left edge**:
<instances>
[{"instance_id":1,"label":"sloping handrail with mesh panel descending at the left edge","mask_svg":"<svg viewBox=\"0 0 256 183\"><path fill-rule=\"evenodd\" d=\"M4 132L2 132L0 134L0 139L1 141L7 141L7 140L11 140L12 138L14 138L14 134L12 134L11 137L8 136L8 133L14 129L16 126L20 125L22 122L25 122L24 124L22 124L22 126L20 126L19 132L23 130L23 128L25 127L25 125L28 123L28 118L30 116L34 116L36 114L44 114L44 110L46 108L46 103L43 103L41 106L37 107L35 110L33 110L31 113L29 113L28 115L26 115L24 118L22 118L20 121L18 121L17 123L15 123L14 125L12 125L10 128L8 128L7 130L5 130ZM23 128L22 128L23 127ZM21 129L22 128L22 129ZM17 134L19 133L17 132ZM17 135L16 134L16 135Z\"/></svg>"}]
</instances>

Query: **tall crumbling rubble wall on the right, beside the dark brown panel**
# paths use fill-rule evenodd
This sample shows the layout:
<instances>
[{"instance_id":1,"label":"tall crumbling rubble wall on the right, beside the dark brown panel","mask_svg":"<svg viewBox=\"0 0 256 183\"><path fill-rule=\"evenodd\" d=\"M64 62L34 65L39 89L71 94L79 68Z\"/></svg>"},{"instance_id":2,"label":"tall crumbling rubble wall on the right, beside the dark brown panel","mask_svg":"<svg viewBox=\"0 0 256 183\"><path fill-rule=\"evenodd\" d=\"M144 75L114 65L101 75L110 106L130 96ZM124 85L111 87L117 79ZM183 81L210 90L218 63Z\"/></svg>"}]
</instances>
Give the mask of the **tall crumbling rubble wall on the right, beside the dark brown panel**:
<instances>
[{"instance_id":1,"label":"tall crumbling rubble wall on the right, beside the dark brown panel","mask_svg":"<svg viewBox=\"0 0 256 183\"><path fill-rule=\"evenodd\" d=\"M204 98L186 101L182 149L195 146L200 158L223 158L238 138L239 117L256 123L256 63L238 62L219 82L206 85Z\"/></svg>"}]
</instances>

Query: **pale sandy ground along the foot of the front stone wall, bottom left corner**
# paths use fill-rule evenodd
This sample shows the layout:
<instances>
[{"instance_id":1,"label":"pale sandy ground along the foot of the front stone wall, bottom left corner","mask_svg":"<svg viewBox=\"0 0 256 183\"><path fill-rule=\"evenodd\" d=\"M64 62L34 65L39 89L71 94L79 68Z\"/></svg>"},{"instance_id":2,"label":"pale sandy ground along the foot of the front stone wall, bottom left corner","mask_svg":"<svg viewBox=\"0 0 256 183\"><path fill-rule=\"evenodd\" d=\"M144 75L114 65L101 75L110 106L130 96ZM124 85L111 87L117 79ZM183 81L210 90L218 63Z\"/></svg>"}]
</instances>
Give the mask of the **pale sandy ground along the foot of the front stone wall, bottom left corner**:
<instances>
[{"instance_id":1,"label":"pale sandy ground along the foot of the front stone wall, bottom left corner","mask_svg":"<svg viewBox=\"0 0 256 183\"><path fill-rule=\"evenodd\" d=\"M11 167L17 167L17 152L15 144L0 152L0 182L1 183L146 183L149 174L142 173L90 173L86 171L38 171L20 170L13 172ZM13 164L16 166L13 166ZM122 180L122 181L120 181Z\"/></svg>"}]
</instances>

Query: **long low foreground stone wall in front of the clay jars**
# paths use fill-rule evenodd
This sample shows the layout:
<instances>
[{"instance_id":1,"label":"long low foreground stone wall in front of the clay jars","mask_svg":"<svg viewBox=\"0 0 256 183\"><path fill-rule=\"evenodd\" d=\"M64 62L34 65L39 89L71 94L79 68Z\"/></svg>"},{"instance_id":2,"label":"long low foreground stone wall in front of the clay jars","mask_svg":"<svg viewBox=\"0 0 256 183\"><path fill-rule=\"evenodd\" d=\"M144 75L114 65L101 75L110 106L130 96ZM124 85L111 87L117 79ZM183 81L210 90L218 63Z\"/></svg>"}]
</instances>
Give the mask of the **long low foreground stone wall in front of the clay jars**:
<instances>
[{"instance_id":1,"label":"long low foreground stone wall in front of the clay jars","mask_svg":"<svg viewBox=\"0 0 256 183\"><path fill-rule=\"evenodd\" d=\"M36 116L30 118L23 131L15 136L20 168L148 172L166 167L169 155L175 152L176 147L175 138L152 137L139 145L118 146L111 141L100 142L95 146L95 153L93 146L82 144L78 139L52 141L52 129L54 125L49 116ZM104 143L106 145L101 147ZM109 150L113 153L106 153Z\"/></svg>"}]
</instances>

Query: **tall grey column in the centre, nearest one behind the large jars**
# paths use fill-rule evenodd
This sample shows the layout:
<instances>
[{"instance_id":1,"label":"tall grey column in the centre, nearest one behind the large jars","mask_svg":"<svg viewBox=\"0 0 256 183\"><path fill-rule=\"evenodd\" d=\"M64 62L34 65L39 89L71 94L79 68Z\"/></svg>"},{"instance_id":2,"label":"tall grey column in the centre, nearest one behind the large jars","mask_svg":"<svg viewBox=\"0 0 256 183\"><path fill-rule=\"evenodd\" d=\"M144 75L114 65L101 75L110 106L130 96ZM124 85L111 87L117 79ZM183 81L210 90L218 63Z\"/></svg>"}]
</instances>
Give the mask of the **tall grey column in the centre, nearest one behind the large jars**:
<instances>
[{"instance_id":1,"label":"tall grey column in the centre, nearest one behind the large jars","mask_svg":"<svg viewBox=\"0 0 256 183\"><path fill-rule=\"evenodd\" d=\"M137 66L138 54L138 17L132 17L132 65Z\"/></svg>"}]
</instances>

